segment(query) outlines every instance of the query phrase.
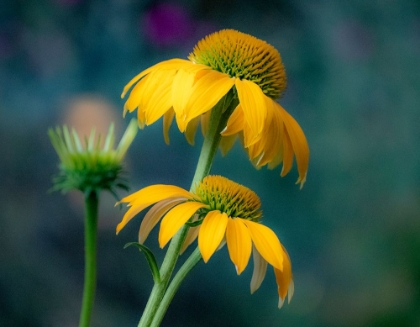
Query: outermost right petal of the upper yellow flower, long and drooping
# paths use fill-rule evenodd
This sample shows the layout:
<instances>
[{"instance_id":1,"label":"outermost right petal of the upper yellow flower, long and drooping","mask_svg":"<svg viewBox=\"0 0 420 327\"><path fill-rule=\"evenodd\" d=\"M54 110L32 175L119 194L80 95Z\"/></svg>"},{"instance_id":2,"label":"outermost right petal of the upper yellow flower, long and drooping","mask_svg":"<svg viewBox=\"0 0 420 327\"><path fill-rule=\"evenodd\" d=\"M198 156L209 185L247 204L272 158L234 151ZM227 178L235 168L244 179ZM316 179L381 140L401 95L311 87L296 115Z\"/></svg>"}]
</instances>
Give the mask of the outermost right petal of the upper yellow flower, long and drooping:
<instances>
[{"instance_id":1,"label":"outermost right petal of the upper yellow flower, long and drooping","mask_svg":"<svg viewBox=\"0 0 420 327\"><path fill-rule=\"evenodd\" d=\"M306 140L305 134L302 128L296 122L296 120L278 104L280 113L283 116L284 124L290 137L290 141L293 147L293 151L296 156L296 163L298 166L299 179L297 183L300 183L301 188L306 180L306 174L309 165L309 146Z\"/></svg>"}]
</instances>

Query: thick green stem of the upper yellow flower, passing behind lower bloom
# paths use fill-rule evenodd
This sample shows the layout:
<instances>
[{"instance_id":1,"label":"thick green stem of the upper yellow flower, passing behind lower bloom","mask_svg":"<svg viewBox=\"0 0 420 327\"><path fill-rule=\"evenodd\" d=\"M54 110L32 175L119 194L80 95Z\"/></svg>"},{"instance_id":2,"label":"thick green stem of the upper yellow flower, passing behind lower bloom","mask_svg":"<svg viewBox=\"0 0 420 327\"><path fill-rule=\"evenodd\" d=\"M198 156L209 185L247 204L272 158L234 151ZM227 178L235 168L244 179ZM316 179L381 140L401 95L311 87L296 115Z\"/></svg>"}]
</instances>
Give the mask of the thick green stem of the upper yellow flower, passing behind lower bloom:
<instances>
[{"instance_id":1,"label":"thick green stem of the upper yellow flower, passing behind lower bloom","mask_svg":"<svg viewBox=\"0 0 420 327\"><path fill-rule=\"evenodd\" d=\"M197 163L197 168L190 189L193 189L195 184L206 177L210 172L211 165L219 147L221 139L220 133L225 128L229 116L237 105L237 100L233 98L232 93L232 91L229 92L212 109L209 129L207 131L206 137L204 138L200 157ZM165 295L170 278L172 276L172 272L179 257L179 252L181 250L182 244L184 243L185 237L187 236L188 228L189 227L187 225L184 225L172 238L168 247L168 251L166 252L165 258L163 260L162 267L160 269L161 281L160 283L155 283L138 327L150 327L152 326L151 324L153 320L158 321L158 324L162 321L170 301L178 289L176 286L171 287L170 293ZM185 275L182 277L179 283L183 280ZM160 308L161 301L164 296L167 296L169 301L166 301L162 308Z\"/></svg>"}]
</instances>

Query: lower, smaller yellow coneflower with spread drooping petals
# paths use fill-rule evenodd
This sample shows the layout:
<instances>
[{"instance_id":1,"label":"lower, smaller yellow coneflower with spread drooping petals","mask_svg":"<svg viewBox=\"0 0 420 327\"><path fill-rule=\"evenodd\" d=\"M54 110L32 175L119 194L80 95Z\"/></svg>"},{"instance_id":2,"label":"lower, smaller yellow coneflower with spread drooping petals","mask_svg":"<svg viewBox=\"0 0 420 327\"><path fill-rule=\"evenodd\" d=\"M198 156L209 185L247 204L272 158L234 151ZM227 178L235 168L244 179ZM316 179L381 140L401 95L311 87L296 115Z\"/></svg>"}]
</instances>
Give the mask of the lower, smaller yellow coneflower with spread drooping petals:
<instances>
[{"instance_id":1,"label":"lower, smaller yellow coneflower with spread drooping petals","mask_svg":"<svg viewBox=\"0 0 420 327\"><path fill-rule=\"evenodd\" d=\"M204 262L227 243L230 259L239 274L246 268L253 253L254 273L251 293L261 285L267 263L273 266L279 293L279 307L289 294L293 296L290 258L276 234L260 223L262 212L259 197L250 189L221 176L207 176L194 191L173 185L145 187L121 200L130 209L117 226L117 234L139 212L154 206L145 215L139 231L143 243L161 221L159 245L164 247L184 224L190 224L183 249L198 237Z\"/></svg>"}]
</instances>

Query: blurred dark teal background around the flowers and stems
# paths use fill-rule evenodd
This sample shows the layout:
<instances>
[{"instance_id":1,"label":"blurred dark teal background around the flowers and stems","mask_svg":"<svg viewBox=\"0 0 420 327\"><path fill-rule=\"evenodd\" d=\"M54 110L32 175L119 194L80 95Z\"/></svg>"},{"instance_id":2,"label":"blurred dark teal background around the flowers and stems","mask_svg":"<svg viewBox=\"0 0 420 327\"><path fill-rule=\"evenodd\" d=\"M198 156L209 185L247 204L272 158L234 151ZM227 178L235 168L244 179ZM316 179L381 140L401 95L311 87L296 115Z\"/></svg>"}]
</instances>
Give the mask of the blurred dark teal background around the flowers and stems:
<instances>
[{"instance_id":1,"label":"blurred dark teal background around the flowers and stems","mask_svg":"<svg viewBox=\"0 0 420 327\"><path fill-rule=\"evenodd\" d=\"M58 157L47 129L106 131L115 121L121 136L124 85L224 28L280 51L289 81L280 103L310 145L302 190L296 167L285 178L256 171L239 144L213 167L261 197L291 256L295 295L278 310L270 270L250 295L252 264L237 276L224 248L186 278L162 326L420 326L416 0L3 0L0 326L78 324L83 201L48 193ZM188 188L201 142L189 146L173 126L167 146L161 123L140 131L126 160L131 189ZM114 203L102 194L92 326L137 326L152 278L123 246L137 240L141 215L116 236L124 211Z\"/></svg>"}]
</instances>

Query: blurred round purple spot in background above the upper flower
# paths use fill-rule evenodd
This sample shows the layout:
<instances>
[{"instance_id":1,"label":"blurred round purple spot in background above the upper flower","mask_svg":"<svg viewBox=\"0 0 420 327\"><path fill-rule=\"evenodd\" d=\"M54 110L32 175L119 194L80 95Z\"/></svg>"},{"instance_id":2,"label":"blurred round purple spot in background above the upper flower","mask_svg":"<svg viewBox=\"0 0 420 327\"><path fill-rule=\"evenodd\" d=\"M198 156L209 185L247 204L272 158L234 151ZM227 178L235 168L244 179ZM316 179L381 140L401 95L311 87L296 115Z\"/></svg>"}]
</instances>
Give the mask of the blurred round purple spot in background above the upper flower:
<instances>
[{"instance_id":1,"label":"blurred round purple spot in background above the upper flower","mask_svg":"<svg viewBox=\"0 0 420 327\"><path fill-rule=\"evenodd\" d=\"M152 7L144 16L146 37L156 46L187 42L193 34L193 21L177 4L163 3Z\"/></svg>"}]
</instances>

